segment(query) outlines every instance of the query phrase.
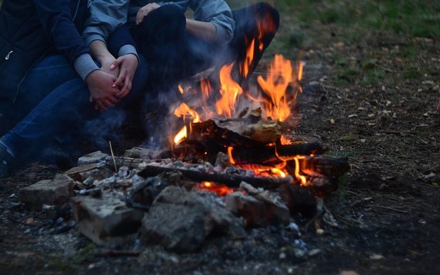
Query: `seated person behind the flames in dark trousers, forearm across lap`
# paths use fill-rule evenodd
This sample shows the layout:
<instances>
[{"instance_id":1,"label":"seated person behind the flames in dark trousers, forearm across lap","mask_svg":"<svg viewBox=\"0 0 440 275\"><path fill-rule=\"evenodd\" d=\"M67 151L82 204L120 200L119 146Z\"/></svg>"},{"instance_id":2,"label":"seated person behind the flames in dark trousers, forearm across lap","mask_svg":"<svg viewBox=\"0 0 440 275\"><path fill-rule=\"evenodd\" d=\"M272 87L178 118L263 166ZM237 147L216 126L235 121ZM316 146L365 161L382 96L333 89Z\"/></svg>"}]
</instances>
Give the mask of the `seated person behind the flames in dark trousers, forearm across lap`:
<instances>
[{"instance_id":1,"label":"seated person behind the flames in dark trousers, forearm across lap","mask_svg":"<svg viewBox=\"0 0 440 275\"><path fill-rule=\"evenodd\" d=\"M231 11L223 0L152 2L131 0L129 25L159 81L178 81L235 61L241 82L252 74L278 30L279 14L267 3ZM188 7L194 20L185 17ZM252 43L252 62L242 69Z\"/></svg>"}]
</instances>

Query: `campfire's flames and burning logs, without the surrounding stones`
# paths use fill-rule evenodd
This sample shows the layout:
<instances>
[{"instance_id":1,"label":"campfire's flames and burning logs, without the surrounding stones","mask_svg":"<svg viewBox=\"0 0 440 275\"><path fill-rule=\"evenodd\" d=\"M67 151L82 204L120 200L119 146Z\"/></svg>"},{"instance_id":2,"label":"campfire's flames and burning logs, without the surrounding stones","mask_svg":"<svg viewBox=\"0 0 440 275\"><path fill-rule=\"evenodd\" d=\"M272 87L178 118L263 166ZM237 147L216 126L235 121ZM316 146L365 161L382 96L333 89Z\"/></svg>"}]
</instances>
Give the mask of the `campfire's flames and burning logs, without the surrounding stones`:
<instances>
[{"instance_id":1,"label":"campfire's flames and burning logs, without the surrounding stones","mask_svg":"<svg viewBox=\"0 0 440 275\"><path fill-rule=\"evenodd\" d=\"M294 67L276 55L267 75L258 76L254 85L245 83L246 88L234 81L234 65L221 67L219 83L202 77L195 87L179 85L184 102L173 111L179 125L170 139L173 157L210 162L223 169L234 166L251 184L265 179L275 185L259 187L274 188L283 183L310 186L317 192L334 190L337 178L349 168L347 159L322 156L325 148L320 142L286 134L298 123L292 110L302 92L303 63ZM248 74L247 66L248 62L239 66L243 77ZM205 179L211 177L206 175ZM225 181L230 180L222 179L219 184ZM230 182L225 187L237 184ZM212 186L218 190L217 185ZM223 189L219 193L225 194Z\"/></svg>"}]
</instances>

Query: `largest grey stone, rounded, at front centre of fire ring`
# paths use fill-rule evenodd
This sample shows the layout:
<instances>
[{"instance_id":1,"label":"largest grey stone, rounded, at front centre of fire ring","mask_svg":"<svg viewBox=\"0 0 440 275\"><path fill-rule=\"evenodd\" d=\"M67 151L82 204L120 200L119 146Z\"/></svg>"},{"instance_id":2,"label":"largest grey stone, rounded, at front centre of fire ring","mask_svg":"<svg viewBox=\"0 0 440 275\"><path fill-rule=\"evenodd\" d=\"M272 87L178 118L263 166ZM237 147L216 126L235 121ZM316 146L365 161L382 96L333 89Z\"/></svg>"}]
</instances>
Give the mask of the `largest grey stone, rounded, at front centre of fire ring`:
<instances>
[{"instance_id":1,"label":"largest grey stone, rounded, at front centre of fire ring","mask_svg":"<svg viewBox=\"0 0 440 275\"><path fill-rule=\"evenodd\" d=\"M243 238L242 221L210 197L169 186L142 220L141 240L174 252L195 252L212 234Z\"/></svg>"}]
</instances>

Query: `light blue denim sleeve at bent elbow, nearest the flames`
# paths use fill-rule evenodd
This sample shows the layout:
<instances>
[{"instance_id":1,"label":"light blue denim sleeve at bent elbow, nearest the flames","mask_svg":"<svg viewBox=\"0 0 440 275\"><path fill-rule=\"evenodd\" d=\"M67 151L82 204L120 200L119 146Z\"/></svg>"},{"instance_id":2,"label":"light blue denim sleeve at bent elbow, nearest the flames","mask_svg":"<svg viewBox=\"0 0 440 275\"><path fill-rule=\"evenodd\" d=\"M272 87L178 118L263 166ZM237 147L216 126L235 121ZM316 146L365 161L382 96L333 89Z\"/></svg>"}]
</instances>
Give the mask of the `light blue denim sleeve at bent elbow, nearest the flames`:
<instances>
[{"instance_id":1,"label":"light blue denim sleeve at bent elbow, nearest the flames","mask_svg":"<svg viewBox=\"0 0 440 275\"><path fill-rule=\"evenodd\" d=\"M235 21L232 11L223 0L190 0L189 6L194 10L194 19L214 24L217 34L215 42L228 43L234 37Z\"/></svg>"}]
</instances>

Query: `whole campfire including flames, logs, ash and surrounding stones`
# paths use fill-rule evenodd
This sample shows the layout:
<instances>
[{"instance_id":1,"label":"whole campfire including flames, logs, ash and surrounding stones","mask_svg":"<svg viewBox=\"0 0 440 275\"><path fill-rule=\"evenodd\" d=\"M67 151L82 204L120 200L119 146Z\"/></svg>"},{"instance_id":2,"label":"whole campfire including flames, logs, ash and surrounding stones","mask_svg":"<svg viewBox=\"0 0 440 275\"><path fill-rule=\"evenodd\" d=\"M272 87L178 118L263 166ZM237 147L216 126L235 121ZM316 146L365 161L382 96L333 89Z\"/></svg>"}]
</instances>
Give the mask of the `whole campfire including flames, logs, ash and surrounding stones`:
<instances>
[{"instance_id":1,"label":"whole campfire including flames, logs, ash and surrounding stones","mask_svg":"<svg viewBox=\"0 0 440 275\"><path fill-rule=\"evenodd\" d=\"M254 79L250 58L179 85L168 148L85 155L65 175L23 189L23 201L41 203L38 190L47 195L47 186L54 192L44 204L76 195L78 228L100 245L139 238L191 252L213 235L241 239L245 228L298 228L295 214L313 218L322 232L320 217L334 221L323 199L338 188L348 161L323 155L322 142L294 133L303 63L276 55L267 74Z\"/></svg>"}]
</instances>

